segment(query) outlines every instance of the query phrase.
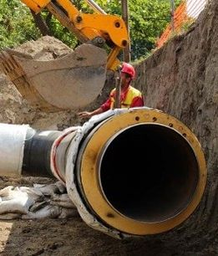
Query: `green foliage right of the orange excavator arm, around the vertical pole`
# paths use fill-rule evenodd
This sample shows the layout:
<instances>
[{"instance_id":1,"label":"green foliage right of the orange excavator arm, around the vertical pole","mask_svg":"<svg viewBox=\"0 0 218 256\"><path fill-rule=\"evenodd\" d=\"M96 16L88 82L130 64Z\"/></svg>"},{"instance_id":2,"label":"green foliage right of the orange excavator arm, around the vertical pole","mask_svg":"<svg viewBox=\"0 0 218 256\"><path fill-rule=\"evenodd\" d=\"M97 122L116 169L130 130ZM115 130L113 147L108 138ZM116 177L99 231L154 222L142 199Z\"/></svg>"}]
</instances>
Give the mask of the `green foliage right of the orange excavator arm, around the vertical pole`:
<instances>
[{"instance_id":1,"label":"green foliage right of the orange excavator arm, around the vertical pole","mask_svg":"<svg viewBox=\"0 0 218 256\"><path fill-rule=\"evenodd\" d=\"M121 1L96 1L106 13L121 14ZM180 0L176 0L178 6ZM156 39L170 22L170 0L129 0L132 59L150 54Z\"/></svg>"}]
</instances>

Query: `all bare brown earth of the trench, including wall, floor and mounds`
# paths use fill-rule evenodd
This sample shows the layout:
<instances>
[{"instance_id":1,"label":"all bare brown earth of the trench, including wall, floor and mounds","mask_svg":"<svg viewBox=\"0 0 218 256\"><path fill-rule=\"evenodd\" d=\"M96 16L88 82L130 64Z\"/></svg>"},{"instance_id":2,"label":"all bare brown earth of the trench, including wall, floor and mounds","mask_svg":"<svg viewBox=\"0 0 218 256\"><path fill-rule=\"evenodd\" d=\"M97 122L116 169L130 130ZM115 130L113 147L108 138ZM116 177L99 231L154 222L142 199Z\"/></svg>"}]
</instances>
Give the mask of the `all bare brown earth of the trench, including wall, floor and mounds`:
<instances>
[{"instance_id":1,"label":"all bare brown earth of the trench, including wall, floor and mounds","mask_svg":"<svg viewBox=\"0 0 218 256\"><path fill-rule=\"evenodd\" d=\"M159 235L115 240L89 228L79 216L69 219L0 222L1 255L217 255L218 252L218 3L212 1L190 30L173 38L149 59L136 65L135 87L145 104L174 115L189 126L205 151L208 182L194 214L179 228ZM67 54L67 46L54 38L27 42L19 48L42 58ZM43 53L43 54L42 54ZM93 110L109 94L108 75ZM84 122L79 110L46 113L23 100L6 77L0 75L0 121L29 124L36 129L63 130ZM52 179L0 177L8 185L48 183Z\"/></svg>"}]
</instances>

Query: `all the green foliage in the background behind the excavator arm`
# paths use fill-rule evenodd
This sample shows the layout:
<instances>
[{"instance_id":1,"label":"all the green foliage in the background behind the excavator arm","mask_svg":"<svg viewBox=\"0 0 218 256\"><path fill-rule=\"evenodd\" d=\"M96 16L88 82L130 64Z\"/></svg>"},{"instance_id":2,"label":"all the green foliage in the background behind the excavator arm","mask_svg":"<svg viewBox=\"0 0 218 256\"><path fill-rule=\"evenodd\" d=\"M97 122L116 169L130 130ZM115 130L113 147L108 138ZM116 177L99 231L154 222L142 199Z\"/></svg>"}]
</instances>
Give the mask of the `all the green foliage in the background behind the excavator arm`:
<instances>
[{"instance_id":1,"label":"all the green foliage in the background behind the excavator arm","mask_svg":"<svg viewBox=\"0 0 218 256\"><path fill-rule=\"evenodd\" d=\"M121 1L96 0L106 13L121 13ZM176 5L180 0L175 1ZM82 0L74 4L84 13L90 9ZM41 37L33 16L19 0L0 0L0 48L13 47L30 39ZM48 12L43 11L47 18L48 28L54 37L74 48L77 38L63 28L55 18L49 18ZM170 0L129 0L129 26L131 37L132 59L150 54L154 49L156 38L160 36L167 23L170 22Z\"/></svg>"}]
</instances>

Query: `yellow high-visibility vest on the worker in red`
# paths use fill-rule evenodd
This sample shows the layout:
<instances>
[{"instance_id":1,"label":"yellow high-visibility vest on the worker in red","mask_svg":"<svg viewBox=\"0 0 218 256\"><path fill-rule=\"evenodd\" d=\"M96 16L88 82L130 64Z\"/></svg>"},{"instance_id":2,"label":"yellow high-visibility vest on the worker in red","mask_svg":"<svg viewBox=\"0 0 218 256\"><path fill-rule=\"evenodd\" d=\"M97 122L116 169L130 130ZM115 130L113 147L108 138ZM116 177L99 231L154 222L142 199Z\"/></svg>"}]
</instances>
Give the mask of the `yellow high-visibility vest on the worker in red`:
<instances>
[{"instance_id":1,"label":"yellow high-visibility vest on the worker in red","mask_svg":"<svg viewBox=\"0 0 218 256\"><path fill-rule=\"evenodd\" d=\"M110 92L110 109L114 109L114 102L115 102L115 88ZM129 108L132 104L135 97L142 98L141 92L134 87L129 85L129 89L125 95L124 99L121 99L121 108Z\"/></svg>"}]
</instances>

